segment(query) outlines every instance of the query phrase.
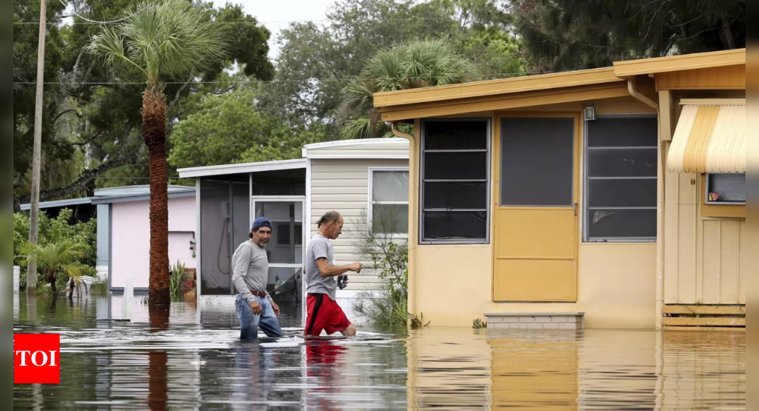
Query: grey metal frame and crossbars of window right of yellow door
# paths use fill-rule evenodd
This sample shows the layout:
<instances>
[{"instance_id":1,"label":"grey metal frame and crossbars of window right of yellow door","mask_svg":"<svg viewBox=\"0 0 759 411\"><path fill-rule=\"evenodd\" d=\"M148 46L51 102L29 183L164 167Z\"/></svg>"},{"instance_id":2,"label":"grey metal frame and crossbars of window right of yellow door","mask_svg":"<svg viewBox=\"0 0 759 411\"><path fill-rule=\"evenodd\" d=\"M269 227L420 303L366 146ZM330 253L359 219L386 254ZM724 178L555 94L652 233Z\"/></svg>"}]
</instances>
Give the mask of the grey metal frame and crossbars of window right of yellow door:
<instances>
[{"instance_id":1,"label":"grey metal frame and crossbars of window right of yellow door","mask_svg":"<svg viewBox=\"0 0 759 411\"><path fill-rule=\"evenodd\" d=\"M597 120L602 119L656 119L659 117L653 113L641 113L641 114L602 114L596 116ZM608 244L608 243L636 243L636 244L649 244L656 243L658 241L658 234L653 237L591 237L591 211L592 210L658 210L658 204L653 207L594 207L591 208L589 182L591 179L603 179L603 180L653 180L657 181L658 176L653 177L595 177L590 176L590 151L591 150L656 150L657 156L659 155L659 132L657 130L657 145L656 146L641 146L641 147L594 147L590 145L590 122L585 120L583 125L583 147L582 147L582 242L586 244ZM658 193L657 193L658 197ZM658 201L658 200L657 200ZM657 211L658 212L658 211Z\"/></svg>"}]
</instances>

